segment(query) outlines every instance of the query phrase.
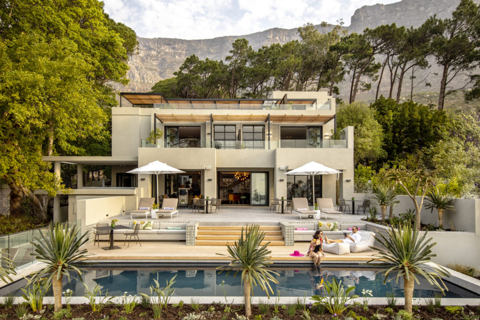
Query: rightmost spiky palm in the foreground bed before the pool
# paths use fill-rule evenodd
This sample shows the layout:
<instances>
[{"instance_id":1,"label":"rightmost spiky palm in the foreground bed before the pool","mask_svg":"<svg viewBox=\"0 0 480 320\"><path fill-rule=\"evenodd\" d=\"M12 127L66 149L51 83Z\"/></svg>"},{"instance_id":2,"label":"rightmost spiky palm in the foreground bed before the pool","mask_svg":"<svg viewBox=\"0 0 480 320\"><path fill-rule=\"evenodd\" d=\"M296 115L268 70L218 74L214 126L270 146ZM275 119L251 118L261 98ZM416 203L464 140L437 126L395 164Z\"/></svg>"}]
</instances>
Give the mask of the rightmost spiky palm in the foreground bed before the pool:
<instances>
[{"instance_id":1,"label":"rightmost spiky palm in the foreground bed before the pool","mask_svg":"<svg viewBox=\"0 0 480 320\"><path fill-rule=\"evenodd\" d=\"M411 224L403 223L398 226L391 225L387 236L379 233L375 240L380 242L387 249L379 249L374 258L367 263L375 263L375 266L385 268L385 279L383 283L392 280L390 273L396 273L395 282L403 278L403 291L405 297L405 310L412 312L412 298L415 282L419 284L417 275L425 278L431 285L436 285L443 292L443 283L441 276L450 274L443 267L427 262L431 257L437 255L431 253L431 248L437 243L429 243L432 238L426 239L428 232L420 236L416 228ZM438 279L438 281L437 281ZM447 289L448 290L448 289Z\"/></svg>"}]
</instances>

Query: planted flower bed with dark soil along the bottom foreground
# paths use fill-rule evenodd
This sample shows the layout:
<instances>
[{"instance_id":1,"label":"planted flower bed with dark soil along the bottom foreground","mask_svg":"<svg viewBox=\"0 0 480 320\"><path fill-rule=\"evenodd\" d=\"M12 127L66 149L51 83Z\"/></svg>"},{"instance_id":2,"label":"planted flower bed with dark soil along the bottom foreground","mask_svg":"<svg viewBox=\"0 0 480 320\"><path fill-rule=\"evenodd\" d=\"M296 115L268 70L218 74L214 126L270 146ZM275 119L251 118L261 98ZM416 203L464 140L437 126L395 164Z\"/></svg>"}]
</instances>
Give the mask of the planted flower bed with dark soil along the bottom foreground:
<instances>
[{"instance_id":1,"label":"planted flower bed with dark soil along the bottom foreground","mask_svg":"<svg viewBox=\"0 0 480 320\"><path fill-rule=\"evenodd\" d=\"M226 312L226 307L230 307L230 312ZM295 310L294 310L295 309ZM65 309L66 310L66 309ZM275 310L278 310L275 313ZM327 310L311 304L303 305L252 305L252 316L250 319L301 319L307 318L304 312L309 312L311 319L395 319L398 312L402 313L402 307L397 306L389 309L387 306L369 306L364 310L363 306L351 306L347 311L335 317L328 313ZM166 310L162 311L162 319L246 319L243 317L244 307L239 305L190 305L175 304L170 305ZM29 315L30 314L30 315ZM18 319L16 314L16 306L0 307L0 317L4 319ZM414 306L414 319L459 319L470 318L475 319L480 315L480 307L438 307L428 309L427 306ZM23 319L64 319L72 320L125 320L125 319L153 319L153 311L149 307L137 305L130 313L126 313L124 305L108 305L101 312L93 313L89 305L71 305L70 313L63 314L60 317L54 317L53 306L46 305L43 311L32 312L28 308L27 315ZM405 317L403 317L405 318ZM307 318L308 319L308 318Z\"/></svg>"}]
</instances>

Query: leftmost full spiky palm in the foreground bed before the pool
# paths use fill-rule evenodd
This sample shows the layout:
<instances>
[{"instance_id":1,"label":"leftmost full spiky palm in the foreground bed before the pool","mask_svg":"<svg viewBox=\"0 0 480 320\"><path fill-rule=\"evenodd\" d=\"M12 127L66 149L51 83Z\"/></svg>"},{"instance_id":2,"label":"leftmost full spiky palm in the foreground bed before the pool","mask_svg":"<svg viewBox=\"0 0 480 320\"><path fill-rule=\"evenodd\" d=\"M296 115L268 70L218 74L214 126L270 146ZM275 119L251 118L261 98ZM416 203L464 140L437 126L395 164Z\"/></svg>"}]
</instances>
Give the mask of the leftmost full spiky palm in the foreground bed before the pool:
<instances>
[{"instance_id":1,"label":"leftmost full spiky palm in the foreground bed before the pool","mask_svg":"<svg viewBox=\"0 0 480 320\"><path fill-rule=\"evenodd\" d=\"M35 237L35 241L30 243L35 247L35 253L32 256L46 263L46 266L38 271L30 280L36 281L49 275L47 281L52 281L53 294L55 298L55 311L62 308L62 279L67 276L70 281L70 272L76 272L82 277L82 267L86 265L84 258L90 254L86 249L80 250L80 247L87 241L87 233L79 236L80 229L76 224L65 223L62 225L57 222L50 224L50 230L40 238Z\"/></svg>"}]
</instances>

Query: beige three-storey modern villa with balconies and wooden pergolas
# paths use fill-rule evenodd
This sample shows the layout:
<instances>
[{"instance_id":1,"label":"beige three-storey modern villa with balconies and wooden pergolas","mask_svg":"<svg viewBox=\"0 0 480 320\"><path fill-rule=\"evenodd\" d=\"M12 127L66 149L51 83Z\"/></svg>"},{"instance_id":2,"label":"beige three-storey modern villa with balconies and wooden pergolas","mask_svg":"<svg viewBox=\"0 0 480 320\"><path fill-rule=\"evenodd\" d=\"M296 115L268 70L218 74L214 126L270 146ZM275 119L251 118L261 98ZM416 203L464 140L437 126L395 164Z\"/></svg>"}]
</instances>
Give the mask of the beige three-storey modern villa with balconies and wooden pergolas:
<instances>
[{"instance_id":1,"label":"beige three-storey modern villa with balconies and wooden pergolas","mask_svg":"<svg viewBox=\"0 0 480 320\"><path fill-rule=\"evenodd\" d=\"M112 155L45 156L57 173L61 163L78 165L78 187L68 196L68 219L76 220L77 200L124 198L124 207L104 208L109 216L136 209L140 197L156 197L154 175L127 171L158 160L185 171L159 176L159 194L188 205L194 196L222 203L269 205L273 198L308 198L311 176L285 172L316 161L341 171L315 176L315 196L353 196L353 127L330 139L335 100L324 92L273 92L270 99L166 99L156 93L122 93L112 108ZM148 144L152 130L163 136ZM83 165L111 166L111 187L85 186ZM299 181L300 180L300 181ZM99 212L102 208L95 208ZM54 217L60 217L58 198ZM87 223L88 224L88 223Z\"/></svg>"}]
</instances>

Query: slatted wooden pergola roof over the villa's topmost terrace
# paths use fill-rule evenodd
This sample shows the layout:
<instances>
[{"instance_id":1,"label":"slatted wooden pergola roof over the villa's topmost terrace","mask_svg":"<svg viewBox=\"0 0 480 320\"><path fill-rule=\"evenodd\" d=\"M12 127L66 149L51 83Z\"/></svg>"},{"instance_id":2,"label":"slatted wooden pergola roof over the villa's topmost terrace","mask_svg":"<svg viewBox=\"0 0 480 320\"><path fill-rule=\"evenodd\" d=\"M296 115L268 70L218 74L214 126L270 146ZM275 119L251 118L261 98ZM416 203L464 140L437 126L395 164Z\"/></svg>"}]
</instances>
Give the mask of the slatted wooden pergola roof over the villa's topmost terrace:
<instances>
[{"instance_id":1,"label":"slatted wooden pergola roof over the villa's topmost terrace","mask_svg":"<svg viewBox=\"0 0 480 320\"><path fill-rule=\"evenodd\" d=\"M133 105L154 104L154 103L176 103L176 104L282 104L283 99L184 99L184 98L165 98L161 93L135 93L122 92L120 97L127 99ZM317 99L288 99L287 101L295 104L315 104Z\"/></svg>"}]
</instances>

